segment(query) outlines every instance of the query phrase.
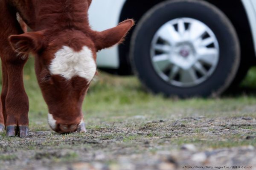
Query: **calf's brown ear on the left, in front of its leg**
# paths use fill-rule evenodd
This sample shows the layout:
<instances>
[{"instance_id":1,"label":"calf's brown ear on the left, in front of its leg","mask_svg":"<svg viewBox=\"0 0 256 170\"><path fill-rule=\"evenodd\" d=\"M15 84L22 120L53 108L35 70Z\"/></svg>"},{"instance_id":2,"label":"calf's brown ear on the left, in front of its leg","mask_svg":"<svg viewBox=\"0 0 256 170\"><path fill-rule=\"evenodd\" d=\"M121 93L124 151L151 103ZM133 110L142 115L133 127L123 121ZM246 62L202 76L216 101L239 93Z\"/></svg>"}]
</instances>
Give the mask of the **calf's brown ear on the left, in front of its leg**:
<instances>
[{"instance_id":1,"label":"calf's brown ear on the left, in front of its leg","mask_svg":"<svg viewBox=\"0 0 256 170\"><path fill-rule=\"evenodd\" d=\"M9 42L12 49L18 54L37 53L43 48L43 33L38 31L11 35Z\"/></svg>"}]
</instances>

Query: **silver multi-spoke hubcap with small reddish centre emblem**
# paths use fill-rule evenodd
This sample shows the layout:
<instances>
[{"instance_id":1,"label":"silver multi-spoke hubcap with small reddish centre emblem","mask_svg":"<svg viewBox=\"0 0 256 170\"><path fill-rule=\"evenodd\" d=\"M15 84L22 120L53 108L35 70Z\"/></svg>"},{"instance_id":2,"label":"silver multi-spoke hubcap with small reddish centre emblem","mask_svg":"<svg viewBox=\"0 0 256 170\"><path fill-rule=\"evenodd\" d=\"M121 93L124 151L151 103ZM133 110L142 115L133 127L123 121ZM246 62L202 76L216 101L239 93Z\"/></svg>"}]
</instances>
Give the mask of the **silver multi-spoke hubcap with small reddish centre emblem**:
<instances>
[{"instance_id":1,"label":"silver multi-spoke hubcap with small reddish centre emblem","mask_svg":"<svg viewBox=\"0 0 256 170\"><path fill-rule=\"evenodd\" d=\"M161 26L151 42L151 62L157 74L178 87L206 81L219 60L218 40L204 23L177 18Z\"/></svg>"}]
</instances>

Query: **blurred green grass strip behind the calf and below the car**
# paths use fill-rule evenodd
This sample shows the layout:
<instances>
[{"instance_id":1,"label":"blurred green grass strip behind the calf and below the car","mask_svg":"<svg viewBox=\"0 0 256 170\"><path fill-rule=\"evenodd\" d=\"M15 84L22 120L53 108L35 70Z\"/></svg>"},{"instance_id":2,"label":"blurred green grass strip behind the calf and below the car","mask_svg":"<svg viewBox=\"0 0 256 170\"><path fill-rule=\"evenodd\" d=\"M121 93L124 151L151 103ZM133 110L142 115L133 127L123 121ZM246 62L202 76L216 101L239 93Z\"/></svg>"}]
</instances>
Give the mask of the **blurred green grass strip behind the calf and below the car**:
<instances>
[{"instance_id":1,"label":"blurred green grass strip behind the calf and below the car","mask_svg":"<svg viewBox=\"0 0 256 170\"><path fill-rule=\"evenodd\" d=\"M35 131L47 130L47 105L36 82L30 58L24 70L24 84L29 96L30 128ZM256 89L256 68L253 68L242 87ZM147 93L136 77L118 77L103 72L92 82L85 97L83 111L88 128L101 126L100 122L122 122L133 116L145 119L169 119L184 116L254 116L254 94L224 96L221 99L193 98L186 100L166 99Z\"/></svg>"}]
</instances>

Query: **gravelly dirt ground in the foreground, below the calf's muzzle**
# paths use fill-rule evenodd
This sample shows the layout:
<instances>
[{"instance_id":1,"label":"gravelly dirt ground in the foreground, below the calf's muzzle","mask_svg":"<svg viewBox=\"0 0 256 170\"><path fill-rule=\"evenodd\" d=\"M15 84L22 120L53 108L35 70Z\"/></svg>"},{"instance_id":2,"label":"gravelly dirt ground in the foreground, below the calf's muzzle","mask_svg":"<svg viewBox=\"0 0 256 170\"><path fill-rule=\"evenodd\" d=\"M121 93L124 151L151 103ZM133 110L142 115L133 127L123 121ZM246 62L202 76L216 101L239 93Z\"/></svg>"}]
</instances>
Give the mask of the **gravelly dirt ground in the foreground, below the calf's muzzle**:
<instances>
[{"instance_id":1,"label":"gravelly dirt ground in the foreground, below the calf's muzzle","mask_svg":"<svg viewBox=\"0 0 256 170\"><path fill-rule=\"evenodd\" d=\"M236 167L237 166L237 167ZM256 118L123 122L88 127L86 134L32 130L0 136L0 170L256 170Z\"/></svg>"}]
</instances>

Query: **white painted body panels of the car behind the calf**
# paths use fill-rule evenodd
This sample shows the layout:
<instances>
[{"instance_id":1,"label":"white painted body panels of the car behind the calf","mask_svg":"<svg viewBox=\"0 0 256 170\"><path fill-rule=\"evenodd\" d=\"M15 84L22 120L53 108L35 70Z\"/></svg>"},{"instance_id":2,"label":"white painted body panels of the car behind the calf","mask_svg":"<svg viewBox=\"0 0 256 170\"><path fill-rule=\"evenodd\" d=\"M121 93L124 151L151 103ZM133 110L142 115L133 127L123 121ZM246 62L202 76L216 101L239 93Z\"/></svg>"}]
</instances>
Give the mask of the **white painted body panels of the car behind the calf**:
<instances>
[{"instance_id":1,"label":"white painted body panels of the car behind the calf","mask_svg":"<svg viewBox=\"0 0 256 170\"><path fill-rule=\"evenodd\" d=\"M89 10L90 24L94 30L102 31L119 23L119 17L126 0L93 0ZM256 51L256 0L241 0L250 22ZM97 64L102 68L119 68L118 48L102 50L98 53Z\"/></svg>"}]
</instances>

